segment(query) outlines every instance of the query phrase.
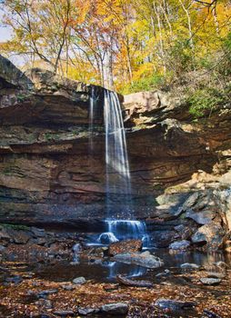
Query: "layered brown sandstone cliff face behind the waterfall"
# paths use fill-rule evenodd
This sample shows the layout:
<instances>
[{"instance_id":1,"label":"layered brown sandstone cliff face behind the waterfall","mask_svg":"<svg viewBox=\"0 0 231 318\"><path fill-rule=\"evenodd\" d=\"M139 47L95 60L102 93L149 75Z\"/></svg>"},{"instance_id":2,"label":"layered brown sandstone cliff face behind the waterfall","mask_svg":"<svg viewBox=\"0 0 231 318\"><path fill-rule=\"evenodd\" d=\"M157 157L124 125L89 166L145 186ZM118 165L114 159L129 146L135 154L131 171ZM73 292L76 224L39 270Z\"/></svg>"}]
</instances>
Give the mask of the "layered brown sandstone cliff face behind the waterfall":
<instances>
[{"instance_id":1,"label":"layered brown sandstone cliff face behind the waterfall","mask_svg":"<svg viewBox=\"0 0 231 318\"><path fill-rule=\"evenodd\" d=\"M2 57L0 83L0 222L81 227L87 220L102 220L103 89L95 86L94 148L90 149L91 85L40 69L23 75ZM230 105L194 123L183 100L156 91L125 96L122 105L135 214L150 220L150 230L164 220L172 240L183 235L175 229L178 224L192 223L194 234L206 225L186 211L176 213L195 192L216 197L212 210L219 206L218 216L210 219L216 219L221 231L230 229L230 203L223 199L230 178L225 184L221 181L231 166ZM201 175L195 175L202 172L206 180L201 181ZM223 200L226 208L221 208ZM118 197L111 203L118 212L119 203ZM194 207L194 213L203 209Z\"/></svg>"}]
</instances>

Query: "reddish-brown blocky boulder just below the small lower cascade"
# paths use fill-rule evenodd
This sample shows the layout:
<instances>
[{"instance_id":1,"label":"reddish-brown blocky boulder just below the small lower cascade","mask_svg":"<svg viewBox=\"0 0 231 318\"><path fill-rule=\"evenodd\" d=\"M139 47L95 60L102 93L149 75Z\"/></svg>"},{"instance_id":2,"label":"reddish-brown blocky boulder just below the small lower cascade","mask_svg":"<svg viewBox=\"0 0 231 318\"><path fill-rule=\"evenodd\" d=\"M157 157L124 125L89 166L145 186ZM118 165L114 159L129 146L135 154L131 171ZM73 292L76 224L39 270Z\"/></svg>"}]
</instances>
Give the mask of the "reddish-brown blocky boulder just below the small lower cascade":
<instances>
[{"instance_id":1,"label":"reddish-brown blocky boulder just below the small lower cascade","mask_svg":"<svg viewBox=\"0 0 231 318\"><path fill-rule=\"evenodd\" d=\"M126 240L111 243L108 248L108 254L114 256L121 253L136 253L142 250L141 240Z\"/></svg>"}]
</instances>

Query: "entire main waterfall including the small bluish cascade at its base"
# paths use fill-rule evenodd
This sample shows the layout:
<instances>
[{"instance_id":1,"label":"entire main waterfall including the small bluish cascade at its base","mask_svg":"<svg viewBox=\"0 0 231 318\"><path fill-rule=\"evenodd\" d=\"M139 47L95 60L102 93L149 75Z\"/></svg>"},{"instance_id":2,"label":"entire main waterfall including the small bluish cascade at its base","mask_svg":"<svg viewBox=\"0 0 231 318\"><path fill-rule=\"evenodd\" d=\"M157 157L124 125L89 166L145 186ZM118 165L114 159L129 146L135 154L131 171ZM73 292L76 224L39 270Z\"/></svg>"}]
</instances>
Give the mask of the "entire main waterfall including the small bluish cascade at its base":
<instances>
[{"instance_id":1,"label":"entire main waterfall including the small bluish cascade at its base","mask_svg":"<svg viewBox=\"0 0 231 318\"><path fill-rule=\"evenodd\" d=\"M126 132L115 92L105 90L104 114L107 232L101 234L98 241L112 243L125 239L141 239L144 246L148 246L146 224L134 220ZM116 205L121 211L117 211Z\"/></svg>"}]
</instances>

